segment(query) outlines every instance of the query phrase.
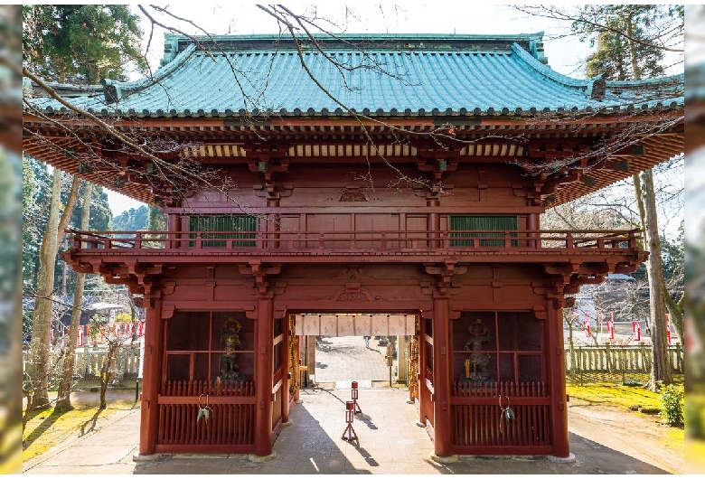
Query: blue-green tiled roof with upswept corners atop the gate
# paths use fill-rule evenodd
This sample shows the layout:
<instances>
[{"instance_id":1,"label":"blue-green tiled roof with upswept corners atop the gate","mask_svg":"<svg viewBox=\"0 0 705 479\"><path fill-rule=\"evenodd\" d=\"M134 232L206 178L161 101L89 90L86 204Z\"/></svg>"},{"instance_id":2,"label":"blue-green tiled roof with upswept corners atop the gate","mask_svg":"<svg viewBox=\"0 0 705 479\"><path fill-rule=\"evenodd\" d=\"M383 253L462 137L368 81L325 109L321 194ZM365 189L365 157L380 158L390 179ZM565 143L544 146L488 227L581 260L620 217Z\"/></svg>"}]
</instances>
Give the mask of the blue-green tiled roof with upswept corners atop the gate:
<instances>
[{"instance_id":1,"label":"blue-green tiled roof with upswept corners atop the gate","mask_svg":"<svg viewBox=\"0 0 705 479\"><path fill-rule=\"evenodd\" d=\"M316 85L290 39L203 38L210 48L202 52L185 37L167 35L163 66L152 79L52 88L80 108L135 117L344 116L346 107L405 117L682 107L683 75L572 79L542 62L540 37L343 35L323 42L329 59L305 44L303 59ZM33 104L50 114L65 111L41 95Z\"/></svg>"}]
</instances>

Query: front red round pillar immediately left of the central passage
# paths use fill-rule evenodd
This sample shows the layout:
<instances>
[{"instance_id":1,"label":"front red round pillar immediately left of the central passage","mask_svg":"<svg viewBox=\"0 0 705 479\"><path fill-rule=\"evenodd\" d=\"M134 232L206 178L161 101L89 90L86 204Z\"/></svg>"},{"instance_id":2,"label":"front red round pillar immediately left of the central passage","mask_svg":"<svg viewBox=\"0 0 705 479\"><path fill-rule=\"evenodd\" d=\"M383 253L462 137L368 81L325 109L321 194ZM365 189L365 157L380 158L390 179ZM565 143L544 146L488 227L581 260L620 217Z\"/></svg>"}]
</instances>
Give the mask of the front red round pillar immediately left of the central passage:
<instances>
[{"instance_id":1,"label":"front red round pillar immediately left of the central passage","mask_svg":"<svg viewBox=\"0 0 705 479\"><path fill-rule=\"evenodd\" d=\"M273 301L259 298L255 324L255 455L272 454Z\"/></svg>"}]
</instances>

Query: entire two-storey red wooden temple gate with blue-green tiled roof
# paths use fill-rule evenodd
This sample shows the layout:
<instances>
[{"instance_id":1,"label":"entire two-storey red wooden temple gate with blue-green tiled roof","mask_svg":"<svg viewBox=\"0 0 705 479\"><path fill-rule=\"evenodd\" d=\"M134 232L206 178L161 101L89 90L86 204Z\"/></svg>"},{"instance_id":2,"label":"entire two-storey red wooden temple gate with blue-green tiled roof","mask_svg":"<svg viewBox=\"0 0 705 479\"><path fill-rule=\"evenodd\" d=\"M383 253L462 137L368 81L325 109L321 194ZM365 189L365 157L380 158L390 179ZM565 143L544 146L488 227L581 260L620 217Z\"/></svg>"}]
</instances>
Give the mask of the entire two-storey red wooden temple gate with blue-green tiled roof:
<instances>
[{"instance_id":1,"label":"entire two-storey red wooden temple gate with blue-green tiled roof","mask_svg":"<svg viewBox=\"0 0 705 479\"><path fill-rule=\"evenodd\" d=\"M540 35L343 38L326 52L408 81L368 68L341 78L320 52L272 36L201 39L218 42L211 58L167 35L154 83L52 85L147 144L178 145L164 163L35 89L24 127L53 146L27 136L28 155L168 218L159 232L72 231L64 256L147 308L140 455L268 456L296 407L300 334L314 328L296 317L343 312L413 328L414 397L437 456L568 457L562 310L645 254L637 230L541 230L540 214L680 153L677 120L606 145L682 117L682 76L569 79L544 64ZM256 108L229 61L268 72L239 83ZM183 164L221 186L171 176Z\"/></svg>"}]
</instances>

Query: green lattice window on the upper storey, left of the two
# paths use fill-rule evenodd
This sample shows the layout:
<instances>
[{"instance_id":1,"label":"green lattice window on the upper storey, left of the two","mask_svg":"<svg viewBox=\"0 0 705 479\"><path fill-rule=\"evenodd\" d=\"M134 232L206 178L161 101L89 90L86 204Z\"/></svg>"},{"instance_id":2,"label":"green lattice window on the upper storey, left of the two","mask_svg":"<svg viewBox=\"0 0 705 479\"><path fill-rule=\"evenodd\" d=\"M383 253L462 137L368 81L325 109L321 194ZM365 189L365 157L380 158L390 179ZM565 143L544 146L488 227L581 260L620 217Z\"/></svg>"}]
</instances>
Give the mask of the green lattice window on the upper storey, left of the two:
<instances>
[{"instance_id":1,"label":"green lattice window on the upper storey, left of the two","mask_svg":"<svg viewBox=\"0 0 705 479\"><path fill-rule=\"evenodd\" d=\"M202 231L203 239L218 239L213 241L203 241L204 247L220 247L223 248L232 244L232 246L256 246L254 239L256 233L252 234L208 234L208 231L257 231L257 218L244 214L220 215L206 214L194 215L189 218L189 231ZM192 234L191 238L195 238ZM237 240L237 241L231 241ZM191 246L195 246L195 241L191 242Z\"/></svg>"}]
</instances>

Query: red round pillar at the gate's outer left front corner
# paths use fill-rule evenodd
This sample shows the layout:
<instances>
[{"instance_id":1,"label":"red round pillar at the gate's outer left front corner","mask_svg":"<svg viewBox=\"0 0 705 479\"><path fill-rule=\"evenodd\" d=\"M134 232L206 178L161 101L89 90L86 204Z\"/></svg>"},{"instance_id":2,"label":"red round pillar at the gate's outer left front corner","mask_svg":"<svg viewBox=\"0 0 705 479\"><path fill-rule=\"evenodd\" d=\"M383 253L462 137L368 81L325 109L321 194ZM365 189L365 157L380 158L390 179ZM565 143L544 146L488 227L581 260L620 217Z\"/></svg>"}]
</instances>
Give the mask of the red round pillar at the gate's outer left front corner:
<instances>
[{"instance_id":1,"label":"red round pillar at the gate's outer left front corner","mask_svg":"<svg viewBox=\"0 0 705 479\"><path fill-rule=\"evenodd\" d=\"M162 345L164 343L164 320L162 301L146 310L145 358L142 372L142 406L139 427L139 456L156 452L156 437L159 428L159 386L162 380Z\"/></svg>"}]
</instances>

